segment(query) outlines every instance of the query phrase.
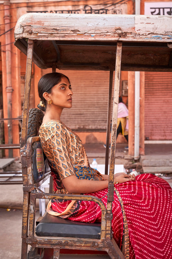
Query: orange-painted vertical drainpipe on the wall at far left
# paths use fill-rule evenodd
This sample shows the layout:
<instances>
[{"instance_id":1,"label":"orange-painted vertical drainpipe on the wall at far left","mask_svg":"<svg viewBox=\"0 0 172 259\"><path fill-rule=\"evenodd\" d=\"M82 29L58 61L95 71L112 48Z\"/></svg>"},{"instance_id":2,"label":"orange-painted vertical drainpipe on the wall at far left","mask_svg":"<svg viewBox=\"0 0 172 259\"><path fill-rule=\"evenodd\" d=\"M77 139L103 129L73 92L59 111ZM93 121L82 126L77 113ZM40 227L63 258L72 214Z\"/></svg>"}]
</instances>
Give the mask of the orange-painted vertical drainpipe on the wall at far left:
<instances>
[{"instance_id":1,"label":"orange-painted vertical drainpipe on the wall at far left","mask_svg":"<svg viewBox=\"0 0 172 259\"><path fill-rule=\"evenodd\" d=\"M7 112L8 118L12 118L12 86L11 86L11 39L10 39L10 1L4 1L4 23L5 23L5 52L6 52L6 75L7 75ZM8 143L13 143L12 120L8 120ZM9 157L13 157L13 150L9 149Z\"/></svg>"}]
</instances>

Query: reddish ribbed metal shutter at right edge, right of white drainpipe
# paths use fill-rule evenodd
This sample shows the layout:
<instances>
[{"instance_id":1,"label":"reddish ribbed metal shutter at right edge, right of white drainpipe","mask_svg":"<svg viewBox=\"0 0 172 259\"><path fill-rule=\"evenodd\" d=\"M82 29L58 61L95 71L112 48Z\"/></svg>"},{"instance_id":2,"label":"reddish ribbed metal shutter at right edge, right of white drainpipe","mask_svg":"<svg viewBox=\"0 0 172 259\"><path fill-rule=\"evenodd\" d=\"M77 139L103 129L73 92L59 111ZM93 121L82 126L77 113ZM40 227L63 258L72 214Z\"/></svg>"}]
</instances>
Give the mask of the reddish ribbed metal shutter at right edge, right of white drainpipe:
<instances>
[{"instance_id":1,"label":"reddish ribbed metal shutter at right edge, right of white drainpipe","mask_svg":"<svg viewBox=\"0 0 172 259\"><path fill-rule=\"evenodd\" d=\"M145 72L145 138L172 139L172 73Z\"/></svg>"}]
</instances>

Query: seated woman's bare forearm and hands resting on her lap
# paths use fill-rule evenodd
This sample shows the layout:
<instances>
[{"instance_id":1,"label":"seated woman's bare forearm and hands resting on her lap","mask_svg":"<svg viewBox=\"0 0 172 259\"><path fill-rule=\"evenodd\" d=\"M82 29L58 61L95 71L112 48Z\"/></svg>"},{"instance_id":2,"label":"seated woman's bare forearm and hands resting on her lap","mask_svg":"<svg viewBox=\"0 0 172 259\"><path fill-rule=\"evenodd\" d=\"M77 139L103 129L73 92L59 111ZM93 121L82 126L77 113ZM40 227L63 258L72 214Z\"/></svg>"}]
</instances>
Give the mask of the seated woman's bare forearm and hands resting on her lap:
<instances>
[{"instance_id":1,"label":"seated woman's bare forearm and hands resting on her lap","mask_svg":"<svg viewBox=\"0 0 172 259\"><path fill-rule=\"evenodd\" d=\"M108 175L102 175L107 178L104 181L92 181L92 180L81 180L78 179L76 175L71 175L62 180L64 187L69 193L92 193L96 191L103 190L108 187ZM119 182L127 182L135 180L135 176L131 176L125 173L117 173L114 178ZM116 182L114 180L114 182Z\"/></svg>"}]
</instances>

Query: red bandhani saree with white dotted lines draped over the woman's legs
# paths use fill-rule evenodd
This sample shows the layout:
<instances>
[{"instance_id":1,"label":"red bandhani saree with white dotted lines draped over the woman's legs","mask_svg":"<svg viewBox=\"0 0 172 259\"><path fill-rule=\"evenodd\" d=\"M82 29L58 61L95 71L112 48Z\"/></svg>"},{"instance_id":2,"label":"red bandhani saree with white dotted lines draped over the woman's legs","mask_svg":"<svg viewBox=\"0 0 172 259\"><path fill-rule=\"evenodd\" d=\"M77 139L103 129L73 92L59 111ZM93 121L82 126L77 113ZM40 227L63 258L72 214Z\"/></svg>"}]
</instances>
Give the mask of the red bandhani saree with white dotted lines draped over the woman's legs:
<instances>
[{"instance_id":1,"label":"red bandhani saree with white dotted lines draped over the woman's legs","mask_svg":"<svg viewBox=\"0 0 172 259\"><path fill-rule=\"evenodd\" d=\"M130 259L172 258L172 189L169 184L152 174L140 174L136 181L115 185L112 204L113 237L121 248L124 229L124 215L119 197L124 205L129 233ZM119 193L119 197L118 197ZM107 188L93 195L107 205ZM105 197L104 197L105 196ZM70 201L51 201L51 210L64 212ZM101 222L99 205L90 201L76 202L68 219L81 222Z\"/></svg>"}]
</instances>

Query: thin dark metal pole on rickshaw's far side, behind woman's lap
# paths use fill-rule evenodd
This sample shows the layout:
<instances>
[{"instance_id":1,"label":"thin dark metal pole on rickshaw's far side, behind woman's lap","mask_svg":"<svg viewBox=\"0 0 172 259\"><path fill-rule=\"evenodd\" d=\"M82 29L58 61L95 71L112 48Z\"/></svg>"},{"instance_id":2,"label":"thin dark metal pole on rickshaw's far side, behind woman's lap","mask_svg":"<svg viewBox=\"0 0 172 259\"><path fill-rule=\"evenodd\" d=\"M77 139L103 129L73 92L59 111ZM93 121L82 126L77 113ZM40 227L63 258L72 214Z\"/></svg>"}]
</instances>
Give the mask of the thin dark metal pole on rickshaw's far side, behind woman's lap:
<instances>
[{"instance_id":1,"label":"thin dark metal pole on rickshaw's far side, behind woman's lap","mask_svg":"<svg viewBox=\"0 0 172 259\"><path fill-rule=\"evenodd\" d=\"M111 69L110 75L109 75L109 100L108 100L108 110L107 110L105 174L108 174L108 165L109 165L109 141L110 141L110 118L111 118L111 104L112 104L113 73L114 73L114 70Z\"/></svg>"}]
</instances>

